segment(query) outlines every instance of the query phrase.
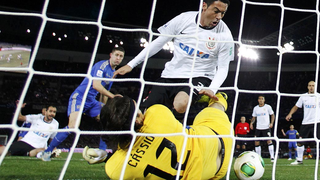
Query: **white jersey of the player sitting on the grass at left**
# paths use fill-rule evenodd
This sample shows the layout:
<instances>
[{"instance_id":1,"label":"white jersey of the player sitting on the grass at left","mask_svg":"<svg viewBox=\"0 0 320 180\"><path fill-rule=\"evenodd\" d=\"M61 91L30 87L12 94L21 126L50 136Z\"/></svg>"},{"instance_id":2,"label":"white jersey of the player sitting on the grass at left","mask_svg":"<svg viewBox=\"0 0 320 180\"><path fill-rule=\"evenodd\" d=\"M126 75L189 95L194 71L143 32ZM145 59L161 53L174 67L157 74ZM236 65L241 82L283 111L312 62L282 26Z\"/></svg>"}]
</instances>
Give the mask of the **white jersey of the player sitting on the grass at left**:
<instances>
[{"instance_id":1,"label":"white jersey of the player sitting on the grass at left","mask_svg":"<svg viewBox=\"0 0 320 180\"><path fill-rule=\"evenodd\" d=\"M57 132L45 130L56 130L59 128L57 120L52 119L50 123L44 121L42 114L30 114L26 116L27 123L31 123L30 131L21 139L35 148L44 148L49 138L54 138ZM41 131L40 131L41 130ZM44 131L43 131L44 130Z\"/></svg>"}]
</instances>

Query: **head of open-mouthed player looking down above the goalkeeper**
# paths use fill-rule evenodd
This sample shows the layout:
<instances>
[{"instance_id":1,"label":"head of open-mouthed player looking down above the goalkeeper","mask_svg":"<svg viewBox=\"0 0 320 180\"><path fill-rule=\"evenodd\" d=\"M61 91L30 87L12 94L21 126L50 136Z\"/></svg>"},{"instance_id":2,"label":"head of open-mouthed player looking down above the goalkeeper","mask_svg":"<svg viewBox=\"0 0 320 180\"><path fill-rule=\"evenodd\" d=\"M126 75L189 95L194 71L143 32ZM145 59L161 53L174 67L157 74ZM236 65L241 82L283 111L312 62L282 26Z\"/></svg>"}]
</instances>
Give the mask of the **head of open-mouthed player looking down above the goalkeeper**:
<instances>
[{"instance_id":1,"label":"head of open-mouthed player looking down above the goalkeeper","mask_svg":"<svg viewBox=\"0 0 320 180\"><path fill-rule=\"evenodd\" d=\"M207 28L217 26L227 12L229 4L229 0L204 0L200 20L201 26Z\"/></svg>"}]
</instances>

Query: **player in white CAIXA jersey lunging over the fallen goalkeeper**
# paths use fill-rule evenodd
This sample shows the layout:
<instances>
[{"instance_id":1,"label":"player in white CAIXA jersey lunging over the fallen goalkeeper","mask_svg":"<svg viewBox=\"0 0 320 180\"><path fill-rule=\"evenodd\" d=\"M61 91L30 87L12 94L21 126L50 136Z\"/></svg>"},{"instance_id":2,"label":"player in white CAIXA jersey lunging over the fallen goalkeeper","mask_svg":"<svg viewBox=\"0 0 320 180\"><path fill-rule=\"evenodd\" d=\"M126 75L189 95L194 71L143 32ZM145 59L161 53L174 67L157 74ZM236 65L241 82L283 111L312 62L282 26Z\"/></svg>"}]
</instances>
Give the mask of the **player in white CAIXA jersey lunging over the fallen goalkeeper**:
<instances>
[{"instance_id":1,"label":"player in white CAIXA jersey lunging over the fallen goalkeeper","mask_svg":"<svg viewBox=\"0 0 320 180\"><path fill-rule=\"evenodd\" d=\"M227 77L229 62L234 59L234 43L220 43L233 41L230 30L221 20L229 4L229 0L204 0L199 27L197 26L199 12L184 12L158 29L162 35L179 36L173 38L173 58L165 64L161 78L156 82L188 83L192 77L192 84L198 87L193 90L192 103L196 102L198 94L218 100L215 93ZM196 37L203 41L197 42ZM148 46L150 50L148 58L159 52L163 45L171 40L172 37L159 36L152 41ZM114 76L124 75L143 62L148 48L142 50L127 65L116 70ZM195 65L191 73L194 57ZM153 86L146 101L140 105L140 109L163 104L181 120L187 109L189 94L189 86Z\"/></svg>"}]
</instances>

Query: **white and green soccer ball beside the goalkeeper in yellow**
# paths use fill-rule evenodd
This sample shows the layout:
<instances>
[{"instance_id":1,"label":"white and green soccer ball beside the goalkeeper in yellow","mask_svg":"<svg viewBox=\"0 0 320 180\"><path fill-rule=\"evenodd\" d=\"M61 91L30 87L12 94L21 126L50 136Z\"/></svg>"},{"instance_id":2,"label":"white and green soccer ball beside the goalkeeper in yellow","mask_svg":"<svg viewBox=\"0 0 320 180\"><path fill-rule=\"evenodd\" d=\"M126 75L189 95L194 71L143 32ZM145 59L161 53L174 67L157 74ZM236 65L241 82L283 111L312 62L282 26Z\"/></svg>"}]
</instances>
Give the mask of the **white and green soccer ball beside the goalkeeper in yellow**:
<instances>
[{"instance_id":1,"label":"white and green soccer ball beside the goalkeeper in yellow","mask_svg":"<svg viewBox=\"0 0 320 180\"><path fill-rule=\"evenodd\" d=\"M238 156L233 168L238 179L257 180L264 173L264 161L258 153L245 151Z\"/></svg>"}]
</instances>

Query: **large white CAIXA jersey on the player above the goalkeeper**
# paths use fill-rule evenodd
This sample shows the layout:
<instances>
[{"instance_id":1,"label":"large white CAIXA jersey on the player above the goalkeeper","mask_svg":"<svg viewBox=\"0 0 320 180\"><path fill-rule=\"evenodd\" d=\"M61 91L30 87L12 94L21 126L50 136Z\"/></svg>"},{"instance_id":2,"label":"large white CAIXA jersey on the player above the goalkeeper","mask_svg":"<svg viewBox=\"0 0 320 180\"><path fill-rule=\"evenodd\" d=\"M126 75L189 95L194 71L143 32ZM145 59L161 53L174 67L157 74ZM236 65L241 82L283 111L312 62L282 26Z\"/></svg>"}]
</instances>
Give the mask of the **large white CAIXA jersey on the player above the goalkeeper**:
<instances>
[{"instance_id":1,"label":"large white CAIXA jersey on the player above the goalkeeper","mask_svg":"<svg viewBox=\"0 0 320 180\"><path fill-rule=\"evenodd\" d=\"M219 43L219 41L233 41L233 37L222 20L212 28L197 27L198 13L181 13L158 29L162 35L179 35L179 37L173 38L175 48L173 58L165 64L161 77L207 77L212 79L210 89L218 89L227 77L229 62L234 60L234 43ZM197 39L199 41L196 47ZM162 46L153 46L153 48L160 50ZM150 50L150 53L154 54L155 52ZM195 55L194 70L191 74ZM140 53L128 65L135 67L144 58L145 56ZM216 75L217 68L220 72Z\"/></svg>"}]
</instances>

